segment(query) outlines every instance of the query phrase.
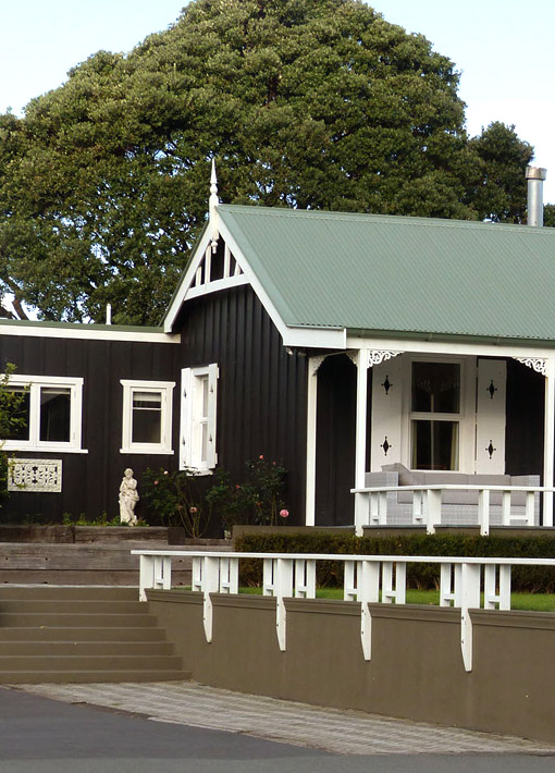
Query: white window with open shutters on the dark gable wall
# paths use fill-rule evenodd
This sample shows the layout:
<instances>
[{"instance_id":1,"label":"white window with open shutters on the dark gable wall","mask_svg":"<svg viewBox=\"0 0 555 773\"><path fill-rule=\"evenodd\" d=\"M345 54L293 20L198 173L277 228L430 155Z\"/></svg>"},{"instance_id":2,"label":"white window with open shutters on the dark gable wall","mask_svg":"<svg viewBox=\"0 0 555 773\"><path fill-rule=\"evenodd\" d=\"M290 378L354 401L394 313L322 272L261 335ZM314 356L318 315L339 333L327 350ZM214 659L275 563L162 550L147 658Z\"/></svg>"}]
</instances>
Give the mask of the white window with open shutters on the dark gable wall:
<instances>
[{"instance_id":1,"label":"white window with open shutters on the dark gable wall","mask_svg":"<svg viewBox=\"0 0 555 773\"><path fill-rule=\"evenodd\" d=\"M200 474L217 465L215 412L218 365L182 370L180 469Z\"/></svg>"}]
</instances>

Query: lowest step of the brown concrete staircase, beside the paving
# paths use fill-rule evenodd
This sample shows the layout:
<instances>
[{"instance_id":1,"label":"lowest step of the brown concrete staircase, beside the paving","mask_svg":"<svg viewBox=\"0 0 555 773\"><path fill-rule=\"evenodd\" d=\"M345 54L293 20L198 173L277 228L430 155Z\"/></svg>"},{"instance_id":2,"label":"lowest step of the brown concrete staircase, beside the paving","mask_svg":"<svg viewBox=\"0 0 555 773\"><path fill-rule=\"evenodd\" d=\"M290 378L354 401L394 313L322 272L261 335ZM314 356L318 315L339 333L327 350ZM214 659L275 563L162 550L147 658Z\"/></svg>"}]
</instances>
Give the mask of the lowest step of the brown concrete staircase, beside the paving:
<instances>
[{"instance_id":1,"label":"lowest step of the brown concrete staircase, beside the paving","mask_svg":"<svg viewBox=\"0 0 555 773\"><path fill-rule=\"evenodd\" d=\"M119 671L0 671L0 684L40 685L101 682L187 682L190 673L171 670L119 670Z\"/></svg>"}]
</instances>

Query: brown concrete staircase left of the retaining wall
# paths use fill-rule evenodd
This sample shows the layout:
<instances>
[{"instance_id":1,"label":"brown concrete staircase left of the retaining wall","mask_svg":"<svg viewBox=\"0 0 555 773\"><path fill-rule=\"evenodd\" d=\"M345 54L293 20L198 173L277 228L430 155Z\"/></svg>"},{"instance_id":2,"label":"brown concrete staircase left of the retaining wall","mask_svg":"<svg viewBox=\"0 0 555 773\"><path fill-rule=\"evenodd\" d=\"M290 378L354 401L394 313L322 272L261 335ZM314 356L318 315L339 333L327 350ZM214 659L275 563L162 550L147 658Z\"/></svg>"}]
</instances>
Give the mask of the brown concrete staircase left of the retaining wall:
<instances>
[{"instance_id":1,"label":"brown concrete staircase left of the retaining wall","mask_svg":"<svg viewBox=\"0 0 555 773\"><path fill-rule=\"evenodd\" d=\"M0 683L188 679L137 589L0 587Z\"/></svg>"}]
</instances>

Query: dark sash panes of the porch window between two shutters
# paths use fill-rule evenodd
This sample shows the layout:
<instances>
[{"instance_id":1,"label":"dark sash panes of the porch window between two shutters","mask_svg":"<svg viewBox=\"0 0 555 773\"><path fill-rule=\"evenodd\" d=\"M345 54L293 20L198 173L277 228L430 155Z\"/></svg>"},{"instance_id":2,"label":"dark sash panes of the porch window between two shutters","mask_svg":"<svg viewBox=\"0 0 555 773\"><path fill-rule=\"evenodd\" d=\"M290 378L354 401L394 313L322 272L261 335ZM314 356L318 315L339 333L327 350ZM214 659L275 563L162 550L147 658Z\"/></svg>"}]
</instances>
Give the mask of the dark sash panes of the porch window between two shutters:
<instances>
[{"instance_id":1,"label":"dark sash panes of the porch window between two shutters","mask_svg":"<svg viewBox=\"0 0 555 773\"><path fill-rule=\"evenodd\" d=\"M459 469L460 365L412 363L412 469Z\"/></svg>"}]
</instances>

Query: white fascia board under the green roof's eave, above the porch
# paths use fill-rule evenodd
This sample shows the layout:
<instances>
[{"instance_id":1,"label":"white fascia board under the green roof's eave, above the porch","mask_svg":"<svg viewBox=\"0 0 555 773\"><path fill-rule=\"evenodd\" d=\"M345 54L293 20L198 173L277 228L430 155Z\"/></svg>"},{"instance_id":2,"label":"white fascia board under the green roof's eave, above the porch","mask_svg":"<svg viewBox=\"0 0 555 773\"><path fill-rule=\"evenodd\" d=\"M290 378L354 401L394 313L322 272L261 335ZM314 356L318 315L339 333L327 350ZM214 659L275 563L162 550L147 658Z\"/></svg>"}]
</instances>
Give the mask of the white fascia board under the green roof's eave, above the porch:
<instances>
[{"instance_id":1,"label":"white fascia board under the green roof's eave, above the porch","mask_svg":"<svg viewBox=\"0 0 555 773\"><path fill-rule=\"evenodd\" d=\"M495 343L464 341L419 341L408 339L375 339L360 335L347 335L347 348L381 349L434 355L474 355L478 357L535 357L550 358L555 354L555 346L527 346L526 343L505 345L502 340Z\"/></svg>"}]
</instances>

